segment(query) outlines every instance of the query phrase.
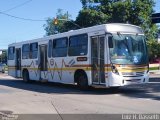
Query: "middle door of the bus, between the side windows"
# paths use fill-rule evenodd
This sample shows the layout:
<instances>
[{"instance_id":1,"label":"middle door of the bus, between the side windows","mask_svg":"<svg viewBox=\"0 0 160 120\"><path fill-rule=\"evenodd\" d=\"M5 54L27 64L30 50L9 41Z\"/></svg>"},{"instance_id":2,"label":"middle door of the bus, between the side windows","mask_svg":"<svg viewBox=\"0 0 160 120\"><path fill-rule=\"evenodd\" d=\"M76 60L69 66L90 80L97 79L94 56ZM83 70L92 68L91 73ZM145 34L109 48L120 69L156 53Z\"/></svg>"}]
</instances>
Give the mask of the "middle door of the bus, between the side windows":
<instances>
[{"instance_id":1,"label":"middle door of the bus, between the side windows","mask_svg":"<svg viewBox=\"0 0 160 120\"><path fill-rule=\"evenodd\" d=\"M39 46L39 73L40 73L40 80L47 80L47 45L40 45Z\"/></svg>"}]
</instances>

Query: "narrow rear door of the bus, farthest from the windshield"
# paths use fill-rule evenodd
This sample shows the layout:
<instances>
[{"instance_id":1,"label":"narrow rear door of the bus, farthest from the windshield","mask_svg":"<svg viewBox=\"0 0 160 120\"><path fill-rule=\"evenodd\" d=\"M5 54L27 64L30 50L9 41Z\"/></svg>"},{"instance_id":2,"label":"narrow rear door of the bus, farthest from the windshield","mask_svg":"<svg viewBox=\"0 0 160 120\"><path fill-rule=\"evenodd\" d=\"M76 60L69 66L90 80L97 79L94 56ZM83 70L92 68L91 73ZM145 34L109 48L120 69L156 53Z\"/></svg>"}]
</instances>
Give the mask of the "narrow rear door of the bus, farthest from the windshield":
<instances>
[{"instance_id":1,"label":"narrow rear door of the bus, farthest from the windshield","mask_svg":"<svg viewBox=\"0 0 160 120\"><path fill-rule=\"evenodd\" d=\"M21 75L21 48L16 48L16 59L15 59L15 77L22 77Z\"/></svg>"}]
</instances>

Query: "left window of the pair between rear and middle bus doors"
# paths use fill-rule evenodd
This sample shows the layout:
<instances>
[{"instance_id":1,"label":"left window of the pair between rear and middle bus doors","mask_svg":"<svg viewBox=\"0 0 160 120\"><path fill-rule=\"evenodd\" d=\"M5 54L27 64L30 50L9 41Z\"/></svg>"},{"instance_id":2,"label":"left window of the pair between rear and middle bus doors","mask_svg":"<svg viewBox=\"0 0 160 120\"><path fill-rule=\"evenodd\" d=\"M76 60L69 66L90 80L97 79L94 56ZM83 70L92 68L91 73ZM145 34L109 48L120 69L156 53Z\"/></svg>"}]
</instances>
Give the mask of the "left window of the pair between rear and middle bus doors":
<instances>
[{"instance_id":1,"label":"left window of the pair between rear and middle bus doors","mask_svg":"<svg viewBox=\"0 0 160 120\"><path fill-rule=\"evenodd\" d=\"M24 44L22 46L22 59L29 59L30 46L29 44Z\"/></svg>"}]
</instances>

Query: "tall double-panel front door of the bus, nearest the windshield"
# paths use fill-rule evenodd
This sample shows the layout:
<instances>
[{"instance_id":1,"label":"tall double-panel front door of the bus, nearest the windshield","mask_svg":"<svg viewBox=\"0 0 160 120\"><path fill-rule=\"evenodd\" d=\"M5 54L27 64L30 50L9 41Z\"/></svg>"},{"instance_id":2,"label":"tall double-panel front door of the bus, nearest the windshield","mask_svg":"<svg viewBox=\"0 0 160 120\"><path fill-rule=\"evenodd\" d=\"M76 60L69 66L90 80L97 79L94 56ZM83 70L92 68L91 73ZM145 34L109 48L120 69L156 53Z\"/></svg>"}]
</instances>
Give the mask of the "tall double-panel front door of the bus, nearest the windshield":
<instances>
[{"instance_id":1,"label":"tall double-panel front door of the bus, nearest the windshield","mask_svg":"<svg viewBox=\"0 0 160 120\"><path fill-rule=\"evenodd\" d=\"M105 35L91 37L92 84L105 84Z\"/></svg>"}]
</instances>

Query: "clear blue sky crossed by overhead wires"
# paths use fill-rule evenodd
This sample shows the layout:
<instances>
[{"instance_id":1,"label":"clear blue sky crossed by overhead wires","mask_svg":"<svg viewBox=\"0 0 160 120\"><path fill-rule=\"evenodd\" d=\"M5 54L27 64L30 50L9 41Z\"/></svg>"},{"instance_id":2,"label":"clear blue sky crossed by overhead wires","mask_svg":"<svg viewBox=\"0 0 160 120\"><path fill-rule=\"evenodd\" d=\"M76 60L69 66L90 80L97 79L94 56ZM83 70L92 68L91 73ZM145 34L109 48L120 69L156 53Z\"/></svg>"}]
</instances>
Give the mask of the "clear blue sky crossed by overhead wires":
<instances>
[{"instance_id":1,"label":"clear blue sky crossed by overhead wires","mask_svg":"<svg viewBox=\"0 0 160 120\"><path fill-rule=\"evenodd\" d=\"M160 12L160 0L155 0L155 12ZM16 7L16 8L15 8ZM1 0L0 1L0 49L8 44L41 38L45 35L43 25L48 17L56 17L58 9L68 11L75 20L82 9L80 0ZM1 12L21 18L43 20L27 21L13 18Z\"/></svg>"}]
</instances>

